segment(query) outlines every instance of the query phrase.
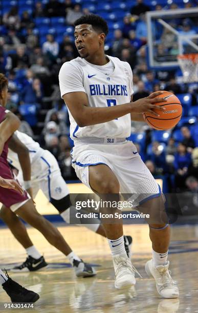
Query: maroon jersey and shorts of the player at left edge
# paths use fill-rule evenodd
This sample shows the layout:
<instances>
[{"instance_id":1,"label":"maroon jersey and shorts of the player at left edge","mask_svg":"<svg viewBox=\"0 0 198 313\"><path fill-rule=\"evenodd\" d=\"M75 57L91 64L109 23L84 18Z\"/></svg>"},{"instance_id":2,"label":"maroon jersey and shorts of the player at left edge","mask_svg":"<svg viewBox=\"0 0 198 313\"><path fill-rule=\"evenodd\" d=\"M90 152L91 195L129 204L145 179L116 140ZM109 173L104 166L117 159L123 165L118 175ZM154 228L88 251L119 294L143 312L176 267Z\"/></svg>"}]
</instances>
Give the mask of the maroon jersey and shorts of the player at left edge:
<instances>
[{"instance_id":1,"label":"maroon jersey and shorts of the player at left edge","mask_svg":"<svg viewBox=\"0 0 198 313\"><path fill-rule=\"evenodd\" d=\"M7 110L0 105L0 123L2 123L3 120L5 119L6 113ZM0 175L3 178L7 178L8 180L13 180L14 175L7 161L8 142L9 139L5 143L2 154L0 155ZM24 202L27 199L28 195L26 191L24 192L23 195L21 195L18 191L15 191L14 189L6 189L0 187L0 202L3 203L8 208L14 204Z\"/></svg>"}]
</instances>

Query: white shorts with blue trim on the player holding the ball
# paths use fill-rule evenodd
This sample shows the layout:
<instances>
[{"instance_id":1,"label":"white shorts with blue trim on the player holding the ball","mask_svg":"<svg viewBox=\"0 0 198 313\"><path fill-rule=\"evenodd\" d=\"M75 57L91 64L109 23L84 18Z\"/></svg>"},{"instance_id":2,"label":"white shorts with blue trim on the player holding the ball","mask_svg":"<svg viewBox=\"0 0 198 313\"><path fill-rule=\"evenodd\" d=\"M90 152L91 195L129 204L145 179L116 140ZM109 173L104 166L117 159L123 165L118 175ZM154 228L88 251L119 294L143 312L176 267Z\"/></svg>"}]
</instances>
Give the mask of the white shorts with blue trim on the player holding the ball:
<instances>
[{"instance_id":1,"label":"white shorts with blue trim on the player holding the ball","mask_svg":"<svg viewBox=\"0 0 198 313\"><path fill-rule=\"evenodd\" d=\"M109 140L109 141L112 141ZM131 194L133 205L161 195L161 190L130 141L112 144L78 143L71 151L72 165L83 184L90 187L89 167L105 164L112 169L120 184L121 194Z\"/></svg>"}]
</instances>

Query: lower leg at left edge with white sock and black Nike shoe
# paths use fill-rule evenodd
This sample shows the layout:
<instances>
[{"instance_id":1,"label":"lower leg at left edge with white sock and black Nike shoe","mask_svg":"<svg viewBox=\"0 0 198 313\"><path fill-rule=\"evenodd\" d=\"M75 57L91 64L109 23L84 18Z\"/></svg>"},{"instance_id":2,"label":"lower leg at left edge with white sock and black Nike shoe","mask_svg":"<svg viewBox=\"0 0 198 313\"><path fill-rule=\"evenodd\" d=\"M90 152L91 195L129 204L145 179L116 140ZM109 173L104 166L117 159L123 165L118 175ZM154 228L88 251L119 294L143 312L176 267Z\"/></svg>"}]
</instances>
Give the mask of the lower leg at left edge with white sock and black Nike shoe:
<instances>
[{"instance_id":1,"label":"lower leg at left edge with white sock and black Nike shoe","mask_svg":"<svg viewBox=\"0 0 198 313\"><path fill-rule=\"evenodd\" d=\"M48 264L46 263L44 257L34 247L24 223L18 218L18 216L12 212L10 208L3 206L0 211L0 217L9 227L16 240L18 240L18 242L24 247L28 255L27 259L23 263L14 266L11 271L31 271L33 268L32 264L34 264L34 271L47 266ZM35 266L35 264L37 265Z\"/></svg>"}]
</instances>

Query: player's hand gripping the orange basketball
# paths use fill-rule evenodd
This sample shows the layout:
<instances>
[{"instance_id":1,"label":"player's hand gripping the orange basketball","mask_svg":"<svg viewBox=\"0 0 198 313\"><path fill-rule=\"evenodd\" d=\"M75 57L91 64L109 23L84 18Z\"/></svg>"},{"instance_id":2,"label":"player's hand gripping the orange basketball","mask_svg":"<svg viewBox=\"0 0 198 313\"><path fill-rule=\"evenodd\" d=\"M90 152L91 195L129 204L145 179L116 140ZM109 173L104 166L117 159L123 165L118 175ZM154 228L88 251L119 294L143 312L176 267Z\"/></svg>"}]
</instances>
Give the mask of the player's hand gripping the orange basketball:
<instances>
[{"instance_id":1,"label":"player's hand gripping the orange basketball","mask_svg":"<svg viewBox=\"0 0 198 313\"><path fill-rule=\"evenodd\" d=\"M163 92L155 92L148 97L139 99L137 101L131 102L131 112L133 113L151 113L155 116L159 116L154 109L158 109L160 111L164 111L165 108L163 106L155 105L157 102L166 102L167 100L164 98L158 98L159 95L162 95Z\"/></svg>"}]
</instances>

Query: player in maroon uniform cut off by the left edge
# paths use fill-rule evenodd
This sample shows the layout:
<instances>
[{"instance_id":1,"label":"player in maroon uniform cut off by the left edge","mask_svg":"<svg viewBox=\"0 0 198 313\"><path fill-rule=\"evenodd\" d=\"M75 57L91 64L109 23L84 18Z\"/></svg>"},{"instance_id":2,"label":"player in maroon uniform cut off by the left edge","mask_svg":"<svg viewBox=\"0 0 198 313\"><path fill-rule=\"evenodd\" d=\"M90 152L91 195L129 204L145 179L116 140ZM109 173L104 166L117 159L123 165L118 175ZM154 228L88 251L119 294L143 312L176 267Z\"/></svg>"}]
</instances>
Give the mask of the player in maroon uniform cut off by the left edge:
<instances>
[{"instance_id":1,"label":"player in maroon uniform cut off by the left edge","mask_svg":"<svg viewBox=\"0 0 198 313\"><path fill-rule=\"evenodd\" d=\"M19 127L20 122L17 117L5 109L7 94L8 80L3 74L0 74L0 173L3 178L12 180L14 176L7 161L8 141ZM25 162L28 162L28 159ZM21 195L16 190L6 190L0 187L0 202L39 230L54 247L67 256L77 277L89 277L96 274L91 266L72 252L59 231L36 211L33 200L26 191ZM47 265L42 256L36 260L29 257L28 263L32 271L39 269L43 264Z\"/></svg>"}]
</instances>

